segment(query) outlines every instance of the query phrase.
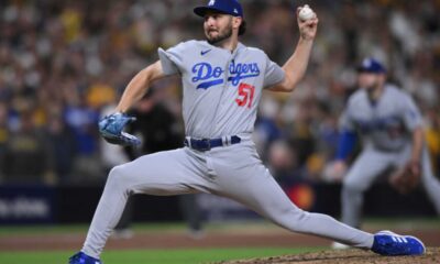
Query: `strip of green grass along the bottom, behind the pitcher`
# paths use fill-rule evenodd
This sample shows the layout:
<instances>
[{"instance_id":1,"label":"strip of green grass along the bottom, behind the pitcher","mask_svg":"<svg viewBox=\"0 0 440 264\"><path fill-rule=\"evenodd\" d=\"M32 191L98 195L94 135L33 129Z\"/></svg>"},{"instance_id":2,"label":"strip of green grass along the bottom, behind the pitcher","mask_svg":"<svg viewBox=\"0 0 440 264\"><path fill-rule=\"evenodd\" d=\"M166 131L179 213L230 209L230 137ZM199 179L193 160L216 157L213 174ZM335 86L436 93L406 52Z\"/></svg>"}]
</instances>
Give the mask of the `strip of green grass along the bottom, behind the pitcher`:
<instances>
[{"instance_id":1,"label":"strip of green grass along the bottom, behind the pitcher","mask_svg":"<svg viewBox=\"0 0 440 264\"><path fill-rule=\"evenodd\" d=\"M105 264L196 264L228 260L253 258L319 251L323 248L234 248L185 250L127 250L106 251ZM61 264L67 263L72 252L0 252L1 264Z\"/></svg>"}]
</instances>

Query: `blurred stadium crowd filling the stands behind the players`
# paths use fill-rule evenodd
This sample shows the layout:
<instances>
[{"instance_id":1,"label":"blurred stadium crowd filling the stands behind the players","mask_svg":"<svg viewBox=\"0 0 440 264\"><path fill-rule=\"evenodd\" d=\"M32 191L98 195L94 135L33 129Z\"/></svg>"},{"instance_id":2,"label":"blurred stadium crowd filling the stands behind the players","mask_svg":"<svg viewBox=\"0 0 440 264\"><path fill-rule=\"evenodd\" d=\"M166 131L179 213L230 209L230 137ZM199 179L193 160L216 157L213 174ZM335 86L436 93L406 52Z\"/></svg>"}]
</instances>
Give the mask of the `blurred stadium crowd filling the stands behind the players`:
<instances>
[{"instance_id":1,"label":"blurred stadium crowd filling the stands behind the players","mask_svg":"<svg viewBox=\"0 0 440 264\"><path fill-rule=\"evenodd\" d=\"M157 59L158 47L204 38L190 8L198 2L0 0L0 183L100 183L109 167L133 158L133 151L103 143L97 121L131 77ZM298 40L292 1L241 2L242 42L283 65ZM312 8L320 24L307 77L293 94L265 92L260 108L255 141L273 174L285 184L324 180L338 118L365 56L382 61L389 79L416 98L439 172L440 1L322 0ZM183 140L179 79L153 90L136 110L161 108L156 117L174 118L169 133L156 134L163 119L148 119L144 141Z\"/></svg>"}]
</instances>

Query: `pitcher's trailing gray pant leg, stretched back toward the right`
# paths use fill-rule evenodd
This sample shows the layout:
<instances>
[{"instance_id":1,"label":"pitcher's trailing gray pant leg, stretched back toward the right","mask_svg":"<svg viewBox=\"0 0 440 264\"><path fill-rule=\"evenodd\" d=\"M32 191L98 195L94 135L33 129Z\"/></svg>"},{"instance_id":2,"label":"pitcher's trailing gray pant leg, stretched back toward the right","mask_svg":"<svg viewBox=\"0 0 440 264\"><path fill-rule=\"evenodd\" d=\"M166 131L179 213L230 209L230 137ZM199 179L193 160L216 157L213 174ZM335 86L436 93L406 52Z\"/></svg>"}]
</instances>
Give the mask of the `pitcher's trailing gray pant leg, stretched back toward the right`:
<instances>
[{"instance_id":1,"label":"pitcher's trailing gray pant leg, stretched back toward the right","mask_svg":"<svg viewBox=\"0 0 440 264\"><path fill-rule=\"evenodd\" d=\"M362 249L371 249L373 234L353 229L333 218L304 211L285 195L263 165L220 179L220 195L234 199L278 226L294 232L314 234Z\"/></svg>"}]
</instances>

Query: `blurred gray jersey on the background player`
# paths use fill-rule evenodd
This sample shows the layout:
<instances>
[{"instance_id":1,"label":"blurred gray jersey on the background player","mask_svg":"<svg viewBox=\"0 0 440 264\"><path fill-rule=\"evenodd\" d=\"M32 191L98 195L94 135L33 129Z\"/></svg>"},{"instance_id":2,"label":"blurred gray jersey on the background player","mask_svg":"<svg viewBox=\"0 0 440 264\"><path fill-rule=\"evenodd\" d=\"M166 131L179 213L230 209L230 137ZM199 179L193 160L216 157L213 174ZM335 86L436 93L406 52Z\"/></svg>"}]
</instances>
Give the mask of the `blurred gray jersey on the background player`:
<instances>
[{"instance_id":1,"label":"blurred gray jersey on the background player","mask_svg":"<svg viewBox=\"0 0 440 264\"><path fill-rule=\"evenodd\" d=\"M421 125L421 114L413 99L394 86L385 86L376 103L364 89L349 99L340 119L342 130L355 131L366 144L382 151L400 151L411 142L411 131Z\"/></svg>"}]
</instances>

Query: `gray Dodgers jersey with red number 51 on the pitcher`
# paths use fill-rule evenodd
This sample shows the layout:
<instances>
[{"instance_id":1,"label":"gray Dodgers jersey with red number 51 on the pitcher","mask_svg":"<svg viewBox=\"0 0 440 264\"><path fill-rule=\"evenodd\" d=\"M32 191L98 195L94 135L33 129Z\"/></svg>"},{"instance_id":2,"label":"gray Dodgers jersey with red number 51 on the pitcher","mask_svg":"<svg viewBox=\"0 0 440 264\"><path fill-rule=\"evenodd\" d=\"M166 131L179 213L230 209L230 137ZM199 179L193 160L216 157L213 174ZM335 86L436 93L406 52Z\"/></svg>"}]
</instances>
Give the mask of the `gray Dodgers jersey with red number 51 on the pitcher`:
<instances>
[{"instance_id":1,"label":"gray Dodgers jersey with red number 51 on the pitcher","mask_svg":"<svg viewBox=\"0 0 440 264\"><path fill-rule=\"evenodd\" d=\"M182 77L185 130L194 138L252 133L263 88L284 79L263 51L241 43L231 53L189 41L158 55L166 75Z\"/></svg>"}]
</instances>

